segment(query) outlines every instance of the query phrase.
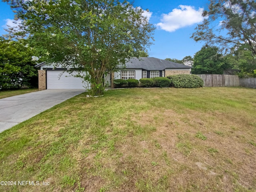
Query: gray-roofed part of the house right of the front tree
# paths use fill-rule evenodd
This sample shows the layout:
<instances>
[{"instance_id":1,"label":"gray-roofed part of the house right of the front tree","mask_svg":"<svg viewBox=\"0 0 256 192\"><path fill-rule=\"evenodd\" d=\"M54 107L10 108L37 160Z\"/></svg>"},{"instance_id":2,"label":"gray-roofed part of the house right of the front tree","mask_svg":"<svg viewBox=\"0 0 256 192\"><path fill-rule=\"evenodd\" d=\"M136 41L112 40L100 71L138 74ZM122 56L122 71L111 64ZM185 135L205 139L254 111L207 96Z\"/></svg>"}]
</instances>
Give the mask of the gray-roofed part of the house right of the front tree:
<instances>
[{"instance_id":1,"label":"gray-roofed part of the house right of the front tree","mask_svg":"<svg viewBox=\"0 0 256 192\"><path fill-rule=\"evenodd\" d=\"M126 68L111 74L111 79L137 79L166 77L175 74L190 74L191 66L166 61L154 57L132 58L126 63ZM113 87L113 81L112 87Z\"/></svg>"}]
</instances>

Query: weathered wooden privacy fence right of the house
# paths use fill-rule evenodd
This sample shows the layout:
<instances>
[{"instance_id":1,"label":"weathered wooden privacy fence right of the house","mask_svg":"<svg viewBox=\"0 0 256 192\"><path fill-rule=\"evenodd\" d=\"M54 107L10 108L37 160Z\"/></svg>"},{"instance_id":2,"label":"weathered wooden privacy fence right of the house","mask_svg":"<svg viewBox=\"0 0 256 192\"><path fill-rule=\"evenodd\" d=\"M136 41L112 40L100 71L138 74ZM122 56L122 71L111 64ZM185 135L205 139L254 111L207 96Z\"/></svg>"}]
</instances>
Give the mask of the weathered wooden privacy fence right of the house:
<instances>
[{"instance_id":1,"label":"weathered wooden privacy fence right of the house","mask_svg":"<svg viewBox=\"0 0 256 192\"><path fill-rule=\"evenodd\" d=\"M239 78L236 75L202 74L205 87L249 87L256 88L256 78Z\"/></svg>"}]
</instances>

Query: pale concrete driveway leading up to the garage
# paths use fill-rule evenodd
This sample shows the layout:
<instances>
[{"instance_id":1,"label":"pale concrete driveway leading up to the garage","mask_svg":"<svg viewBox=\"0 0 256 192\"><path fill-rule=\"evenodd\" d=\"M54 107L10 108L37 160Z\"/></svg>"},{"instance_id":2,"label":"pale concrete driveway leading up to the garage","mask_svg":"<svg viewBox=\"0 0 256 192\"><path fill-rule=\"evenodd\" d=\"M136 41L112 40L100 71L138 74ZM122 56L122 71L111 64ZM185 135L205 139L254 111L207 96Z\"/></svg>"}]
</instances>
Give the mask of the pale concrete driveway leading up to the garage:
<instances>
[{"instance_id":1,"label":"pale concrete driveway leading up to the garage","mask_svg":"<svg viewBox=\"0 0 256 192\"><path fill-rule=\"evenodd\" d=\"M0 99L0 132L85 91L48 89Z\"/></svg>"}]
</instances>

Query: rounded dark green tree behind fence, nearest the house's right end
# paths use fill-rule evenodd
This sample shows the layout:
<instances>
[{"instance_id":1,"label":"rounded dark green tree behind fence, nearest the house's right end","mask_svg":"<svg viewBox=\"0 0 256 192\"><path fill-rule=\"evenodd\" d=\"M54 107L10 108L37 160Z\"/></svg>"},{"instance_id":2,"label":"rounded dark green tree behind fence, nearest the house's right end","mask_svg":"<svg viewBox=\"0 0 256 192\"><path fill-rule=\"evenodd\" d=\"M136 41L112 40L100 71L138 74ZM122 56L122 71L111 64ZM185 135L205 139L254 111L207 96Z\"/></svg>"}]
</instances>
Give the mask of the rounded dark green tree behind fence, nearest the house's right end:
<instances>
[{"instance_id":1,"label":"rounded dark green tree behind fence, nearest the house's right end","mask_svg":"<svg viewBox=\"0 0 256 192\"><path fill-rule=\"evenodd\" d=\"M223 74L230 65L224 62L217 47L202 47L194 56L192 74Z\"/></svg>"}]
</instances>

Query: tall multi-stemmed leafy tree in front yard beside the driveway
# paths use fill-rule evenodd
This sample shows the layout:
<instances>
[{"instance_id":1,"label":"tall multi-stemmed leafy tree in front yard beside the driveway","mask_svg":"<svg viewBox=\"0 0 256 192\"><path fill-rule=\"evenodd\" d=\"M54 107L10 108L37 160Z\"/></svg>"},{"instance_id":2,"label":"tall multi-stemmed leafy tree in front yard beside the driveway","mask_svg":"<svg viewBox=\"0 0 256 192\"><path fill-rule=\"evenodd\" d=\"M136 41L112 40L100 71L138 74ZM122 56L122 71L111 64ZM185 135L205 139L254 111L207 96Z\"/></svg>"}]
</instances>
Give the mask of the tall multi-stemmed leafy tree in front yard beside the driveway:
<instances>
[{"instance_id":1,"label":"tall multi-stemmed leafy tree in front yard beside the driveway","mask_svg":"<svg viewBox=\"0 0 256 192\"><path fill-rule=\"evenodd\" d=\"M104 93L106 70L124 65L152 44L154 27L142 9L127 1L4 1L17 10L30 46L48 55L48 62L87 71L83 78L94 95Z\"/></svg>"}]
</instances>

